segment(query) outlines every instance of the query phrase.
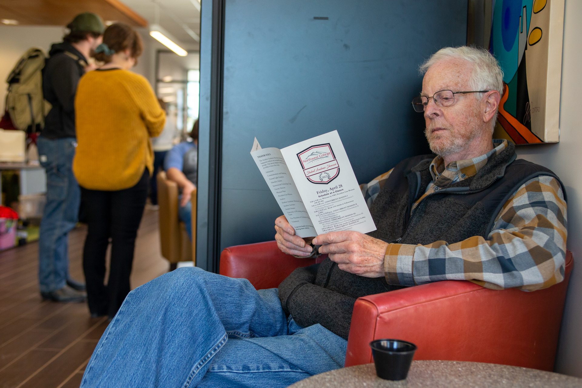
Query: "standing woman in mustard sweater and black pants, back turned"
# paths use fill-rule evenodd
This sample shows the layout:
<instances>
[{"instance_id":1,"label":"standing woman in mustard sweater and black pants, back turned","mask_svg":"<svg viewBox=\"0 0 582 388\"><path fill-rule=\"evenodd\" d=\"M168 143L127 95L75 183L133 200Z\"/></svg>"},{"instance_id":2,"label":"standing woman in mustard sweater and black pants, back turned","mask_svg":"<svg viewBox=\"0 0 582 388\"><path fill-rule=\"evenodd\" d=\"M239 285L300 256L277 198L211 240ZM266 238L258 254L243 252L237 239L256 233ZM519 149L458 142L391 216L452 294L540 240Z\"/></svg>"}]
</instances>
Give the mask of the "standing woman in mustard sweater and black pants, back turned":
<instances>
[{"instance_id":1,"label":"standing woman in mustard sweater and black pants, back turned","mask_svg":"<svg viewBox=\"0 0 582 388\"><path fill-rule=\"evenodd\" d=\"M73 172L88 224L83 250L87 299L91 316L110 319L130 291L137 228L153 170L150 137L158 136L165 123L165 112L148 81L129 71L142 51L132 27L109 26L95 50L95 59L105 65L81 78L75 99L78 145Z\"/></svg>"}]
</instances>

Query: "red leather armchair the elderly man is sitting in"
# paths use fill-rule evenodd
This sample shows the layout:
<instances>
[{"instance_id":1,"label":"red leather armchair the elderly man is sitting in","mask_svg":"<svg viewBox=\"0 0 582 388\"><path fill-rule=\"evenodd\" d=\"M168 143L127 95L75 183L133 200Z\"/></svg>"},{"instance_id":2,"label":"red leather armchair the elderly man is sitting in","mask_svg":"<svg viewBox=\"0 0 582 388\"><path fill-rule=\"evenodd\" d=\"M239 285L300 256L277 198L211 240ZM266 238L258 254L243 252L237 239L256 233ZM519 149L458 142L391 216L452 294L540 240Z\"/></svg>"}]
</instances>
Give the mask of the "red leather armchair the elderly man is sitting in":
<instances>
[{"instance_id":1,"label":"red leather armchair the elderly man is sitting in","mask_svg":"<svg viewBox=\"0 0 582 388\"><path fill-rule=\"evenodd\" d=\"M244 277L256 289L267 289L278 287L294 269L315 262L283 254L275 241L268 241L226 248L220 273ZM552 371L573 265L567 251L564 281L533 292L494 291L465 280L446 280L359 298L347 340L346 366L373 362L370 341L397 338L418 346L414 359Z\"/></svg>"}]
</instances>

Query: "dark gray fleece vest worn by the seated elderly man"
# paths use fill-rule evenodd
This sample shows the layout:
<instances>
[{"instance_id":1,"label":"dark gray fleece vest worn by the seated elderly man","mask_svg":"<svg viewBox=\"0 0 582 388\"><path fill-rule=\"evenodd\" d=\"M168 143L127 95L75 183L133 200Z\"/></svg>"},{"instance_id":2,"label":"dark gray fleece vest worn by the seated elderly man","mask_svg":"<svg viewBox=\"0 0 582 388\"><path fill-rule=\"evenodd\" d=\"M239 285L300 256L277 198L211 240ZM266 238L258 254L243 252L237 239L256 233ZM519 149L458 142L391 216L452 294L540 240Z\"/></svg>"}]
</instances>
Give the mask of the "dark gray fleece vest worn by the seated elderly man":
<instances>
[{"instance_id":1,"label":"dark gray fleece vest worn by the seated elderly man","mask_svg":"<svg viewBox=\"0 0 582 388\"><path fill-rule=\"evenodd\" d=\"M412 205L425 193L432 180L429 166L434 157L435 155L414 156L396 165L370 209L377 227L377 230L368 233L370 236L388 243L423 245L440 240L452 244L471 236L487 239L503 204L517 188L537 176L547 175L558 179L542 166L523 159L516 161L515 146L509 143L507 148L492 157L473 177L427 195L411 212ZM566 196L563 185L562 190ZM331 297L326 290L318 295L319 287L296 287L289 294L279 286L280 294L282 291L284 295L289 294L287 300L282 300L283 307L299 325L321 323L345 338L349 332L356 298L402 288L388 284L385 277L370 279L345 272L329 259L325 259L316 270L313 282L310 283L335 291L336 294ZM398 279L390 283L398 283ZM305 292L302 288L305 291L308 289L310 294L301 296ZM310 316L313 316L313 312L310 309L314 306L308 301L324 295L330 301L324 307L329 311L328 314L321 314L322 306L318 304L318 320L321 321L322 316L328 316L329 321L311 322Z\"/></svg>"}]
</instances>

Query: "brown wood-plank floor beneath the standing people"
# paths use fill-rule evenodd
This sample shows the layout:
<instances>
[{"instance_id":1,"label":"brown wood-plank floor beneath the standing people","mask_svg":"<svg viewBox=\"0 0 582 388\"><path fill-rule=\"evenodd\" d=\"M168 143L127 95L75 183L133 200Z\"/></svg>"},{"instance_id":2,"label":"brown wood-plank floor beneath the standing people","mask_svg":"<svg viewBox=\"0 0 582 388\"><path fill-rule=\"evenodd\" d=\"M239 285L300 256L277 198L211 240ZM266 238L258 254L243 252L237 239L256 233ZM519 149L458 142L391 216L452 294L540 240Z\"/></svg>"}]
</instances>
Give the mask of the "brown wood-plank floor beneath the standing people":
<instances>
[{"instance_id":1,"label":"brown wood-plank floor beneath the standing people","mask_svg":"<svg viewBox=\"0 0 582 388\"><path fill-rule=\"evenodd\" d=\"M87 229L70 233L70 273L83 280ZM168 272L159 250L158 213L144 213L136 241L132 289ZM77 388L107 317L89 316L87 304L41 301L38 243L0 252L0 388Z\"/></svg>"}]
</instances>

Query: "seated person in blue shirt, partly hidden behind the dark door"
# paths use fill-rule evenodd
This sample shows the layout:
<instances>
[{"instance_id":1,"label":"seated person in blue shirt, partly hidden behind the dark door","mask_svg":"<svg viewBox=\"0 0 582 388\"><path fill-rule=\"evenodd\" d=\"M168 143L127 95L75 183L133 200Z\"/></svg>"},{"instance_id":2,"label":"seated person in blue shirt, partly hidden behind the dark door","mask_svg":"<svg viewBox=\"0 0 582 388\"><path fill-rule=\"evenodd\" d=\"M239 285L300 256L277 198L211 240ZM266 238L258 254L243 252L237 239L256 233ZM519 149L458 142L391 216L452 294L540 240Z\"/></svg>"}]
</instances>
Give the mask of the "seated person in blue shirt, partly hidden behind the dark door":
<instances>
[{"instance_id":1,"label":"seated person in blue shirt, partly hidden behind the dark door","mask_svg":"<svg viewBox=\"0 0 582 388\"><path fill-rule=\"evenodd\" d=\"M192 239L192 191L196 188L198 173L198 120L194 122L190 132L191 140L176 144L164 161L164 169L169 180L178 183L180 190L180 206L178 215L186 225L186 232Z\"/></svg>"}]
</instances>

